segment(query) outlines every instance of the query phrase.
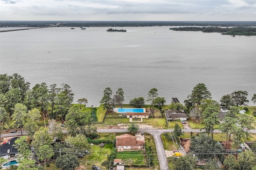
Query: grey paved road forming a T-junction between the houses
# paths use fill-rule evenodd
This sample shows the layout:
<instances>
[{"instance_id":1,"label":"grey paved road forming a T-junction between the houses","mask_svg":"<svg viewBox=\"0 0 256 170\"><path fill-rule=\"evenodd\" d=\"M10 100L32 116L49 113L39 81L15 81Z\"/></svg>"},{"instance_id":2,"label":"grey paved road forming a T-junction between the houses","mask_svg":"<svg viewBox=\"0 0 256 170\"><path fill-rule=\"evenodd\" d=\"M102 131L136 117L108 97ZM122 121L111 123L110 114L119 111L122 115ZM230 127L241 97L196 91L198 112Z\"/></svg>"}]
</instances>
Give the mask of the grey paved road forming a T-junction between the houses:
<instances>
[{"instance_id":1,"label":"grey paved road forming a T-junction between the houses","mask_svg":"<svg viewBox=\"0 0 256 170\"><path fill-rule=\"evenodd\" d=\"M164 146L161 139L161 134L165 132L172 132L174 129L139 129L138 132L150 133L154 137L154 141L156 143L156 151L158 155L158 160L160 164L161 170L169 170L168 162L164 150ZM200 129L182 129L184 132L200 132ZM204 131L204 130L202 130ZM97 129L98 133L128 133L127 129ZM63 131L63 133L67 133L67 131ZM220 133L218 130L214 130L214 133ZM256 133L256 130L250 130L249 133ZM26 132L24 131L25 135ZM2 137L10 137L10 136L20 136L20 132L16 133L6 133L2 134Z\"/></svg>"}]
</instances>

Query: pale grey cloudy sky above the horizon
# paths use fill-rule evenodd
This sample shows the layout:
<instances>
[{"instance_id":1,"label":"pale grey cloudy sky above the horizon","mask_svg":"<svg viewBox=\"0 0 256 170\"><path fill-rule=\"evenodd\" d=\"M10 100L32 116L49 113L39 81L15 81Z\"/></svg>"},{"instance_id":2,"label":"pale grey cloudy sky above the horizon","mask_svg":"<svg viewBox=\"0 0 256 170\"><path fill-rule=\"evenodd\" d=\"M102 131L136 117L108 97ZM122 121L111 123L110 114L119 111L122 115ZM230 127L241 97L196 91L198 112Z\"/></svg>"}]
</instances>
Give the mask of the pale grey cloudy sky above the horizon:
<instances>
[{"instance_id":1,"label":"pale grey cloudy sky above the horizon","mask_svg":"<svg viewBox=\"0 0 256 170\"><path fill-rule=\"evenodd\" d=\"M256 21L256 0L0 0L0 20Z\"/></svg>"}]
</instances>

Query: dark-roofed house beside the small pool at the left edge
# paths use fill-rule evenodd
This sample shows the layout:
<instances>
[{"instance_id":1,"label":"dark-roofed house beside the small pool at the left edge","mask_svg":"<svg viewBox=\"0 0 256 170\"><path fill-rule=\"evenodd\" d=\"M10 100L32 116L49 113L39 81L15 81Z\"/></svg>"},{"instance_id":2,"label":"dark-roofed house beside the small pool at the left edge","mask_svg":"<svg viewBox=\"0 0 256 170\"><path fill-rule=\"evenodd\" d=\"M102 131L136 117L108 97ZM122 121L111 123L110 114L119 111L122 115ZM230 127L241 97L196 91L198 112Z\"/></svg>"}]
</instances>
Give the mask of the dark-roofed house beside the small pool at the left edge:
<instances>
[{"instance_id":1,"label":"dark-roofed house beside the small pool at the left edge","mask_svg":"<svg viewBox=\"0 0 256 170\"><path fill-rule=\"evenodd\" d=\"M16 156L18 154L18 150L13 146L16 139L18 137L13 137L5 144L0 145L0 157L10 158L10 156Z\"/></svg>"}]
</instances>

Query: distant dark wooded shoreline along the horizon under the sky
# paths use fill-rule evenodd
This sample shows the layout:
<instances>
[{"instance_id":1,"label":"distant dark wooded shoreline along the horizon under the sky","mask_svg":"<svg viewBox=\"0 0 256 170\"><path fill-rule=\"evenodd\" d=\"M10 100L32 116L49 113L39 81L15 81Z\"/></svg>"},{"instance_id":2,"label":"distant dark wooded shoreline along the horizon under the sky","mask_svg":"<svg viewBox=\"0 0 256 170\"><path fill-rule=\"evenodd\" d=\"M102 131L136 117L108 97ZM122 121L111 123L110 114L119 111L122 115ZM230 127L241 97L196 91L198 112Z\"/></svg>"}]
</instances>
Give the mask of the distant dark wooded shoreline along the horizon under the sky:
<instances>
[{"instance_id":1,"label":"distant dark wooded shoreline along the horizon under the sky","mask_svg":"<svg viewBox=\"0 0 256 170\"><path fill-rule=\"evenodd\" d=\"M256 27L256 21L0 21L0 27Z\"/></svg>"}]
</instances>

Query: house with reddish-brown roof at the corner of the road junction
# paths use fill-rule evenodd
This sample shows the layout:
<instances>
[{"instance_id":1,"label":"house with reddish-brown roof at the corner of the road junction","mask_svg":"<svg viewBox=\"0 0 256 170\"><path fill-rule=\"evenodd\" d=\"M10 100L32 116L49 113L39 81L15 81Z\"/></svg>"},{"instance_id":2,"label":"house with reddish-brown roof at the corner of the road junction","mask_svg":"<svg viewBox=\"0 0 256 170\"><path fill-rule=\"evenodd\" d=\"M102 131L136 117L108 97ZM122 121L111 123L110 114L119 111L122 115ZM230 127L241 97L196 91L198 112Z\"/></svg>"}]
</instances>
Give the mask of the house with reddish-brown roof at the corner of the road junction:
<instances>
[{"instance_id":1,"label":"house with reddish-brown roof at the corner of the road junction","mask_svg":"<svg viewBox=\"0 0 256 170\"><path fill-rule=\"evenodd\" d=\"M118 151L145 149L144 134L136 133L135 136L129 134L116 136L116 149Z\"/></svg>"}]
</instances>

